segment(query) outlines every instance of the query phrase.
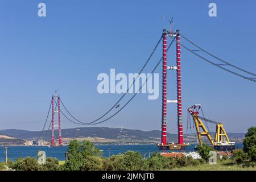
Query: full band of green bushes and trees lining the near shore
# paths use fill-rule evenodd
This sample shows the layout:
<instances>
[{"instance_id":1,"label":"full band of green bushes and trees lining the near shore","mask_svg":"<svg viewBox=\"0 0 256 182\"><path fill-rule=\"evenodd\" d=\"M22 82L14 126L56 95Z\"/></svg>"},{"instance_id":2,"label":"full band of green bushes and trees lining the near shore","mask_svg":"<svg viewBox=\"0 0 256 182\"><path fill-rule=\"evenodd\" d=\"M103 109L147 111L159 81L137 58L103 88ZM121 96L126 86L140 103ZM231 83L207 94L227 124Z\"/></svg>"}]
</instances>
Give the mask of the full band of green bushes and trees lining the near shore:
<instances>
[{"instance_id":1,"label":"full band of green bushes and trees lining the near shore","mask_svg":"<svg viewBox=\"0 0 256 182\"><path fill-rule=\"evenodd\" d=\"M154 153L150 158L144 159L139 152L127 151L125 154L112 155L110 158L102 157L102 151L94 147L91 142L72 140L68 146L68 157L63 164L55 158L47 158L46 164L39 165L36 158L18 158L15 162L8 162L8 167L14 170L42 171L42 170L171 170L195 169L209 167L209 151L213 150L208 145L198 148L202 159L192 159L190 156L181 158L167 158L159 153ZM234 152L234 159L227 157L218 159L222 169L230 168L237 164L242 167L255 167L256 162L256 127L251 127L243 140L243 150ZM214 166L214 165L211 165ZM0 163L0 170L5 166ZM253 168L254 169L254 168Z\"/></svg>"}]
</instances>

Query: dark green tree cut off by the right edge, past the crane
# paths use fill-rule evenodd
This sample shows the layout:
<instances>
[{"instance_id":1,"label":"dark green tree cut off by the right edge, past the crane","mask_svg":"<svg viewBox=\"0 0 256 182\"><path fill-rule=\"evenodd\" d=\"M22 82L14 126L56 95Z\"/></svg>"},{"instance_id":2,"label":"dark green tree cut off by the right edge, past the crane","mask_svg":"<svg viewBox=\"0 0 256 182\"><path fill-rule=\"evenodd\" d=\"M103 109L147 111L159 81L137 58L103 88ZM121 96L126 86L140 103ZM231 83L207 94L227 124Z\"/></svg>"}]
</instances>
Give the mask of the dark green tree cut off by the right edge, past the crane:
<instances>
[{"instance_id":1,"label":"dark green tree cut off by the right edge, past the crane","mask_svg":"<svg viewBox=\"0 0 256 182\"><path fill-rule=\"evenodd\" d=\"M243 151L248 154L251 160L256 160L256 127L250 127L243 139Z\"/></svg>"}]
</instances>

